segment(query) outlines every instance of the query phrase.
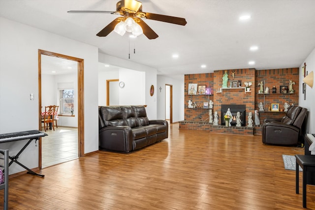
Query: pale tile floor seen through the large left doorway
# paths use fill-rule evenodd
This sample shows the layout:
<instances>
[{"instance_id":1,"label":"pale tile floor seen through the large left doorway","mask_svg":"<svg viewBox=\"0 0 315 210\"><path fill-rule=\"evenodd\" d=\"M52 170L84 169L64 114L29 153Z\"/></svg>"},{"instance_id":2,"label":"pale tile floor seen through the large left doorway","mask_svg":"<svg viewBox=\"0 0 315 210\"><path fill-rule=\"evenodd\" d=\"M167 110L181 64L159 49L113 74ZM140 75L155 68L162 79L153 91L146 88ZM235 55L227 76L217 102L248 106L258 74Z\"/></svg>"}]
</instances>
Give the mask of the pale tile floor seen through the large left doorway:
<instances>
[{"instance_id":1,"label":"pale tile floor seen through the large left doorway","mask_svg":"<svg viewBox=\"0 0 315 210\"><path fill-rule=\"evenodd\" d=\"M78 128L55 127L42 138L42 168L78 158Z\"/></svg>"}]
</instances>

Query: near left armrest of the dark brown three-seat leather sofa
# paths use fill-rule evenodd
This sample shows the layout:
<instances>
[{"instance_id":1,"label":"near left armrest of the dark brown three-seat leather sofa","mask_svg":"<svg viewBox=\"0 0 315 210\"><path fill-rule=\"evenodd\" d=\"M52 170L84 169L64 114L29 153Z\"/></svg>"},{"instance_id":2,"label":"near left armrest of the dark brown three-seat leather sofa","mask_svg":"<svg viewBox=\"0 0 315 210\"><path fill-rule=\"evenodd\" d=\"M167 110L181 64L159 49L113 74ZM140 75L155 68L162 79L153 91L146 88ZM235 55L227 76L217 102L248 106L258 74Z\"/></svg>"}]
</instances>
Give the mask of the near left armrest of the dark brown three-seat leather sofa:
<instances>
[{"instance_id":1,"label":"near left armrest of the dark brown three-seat leather sofa","mask_svg":"<svg viewBox=\"0 0 315 210\"><path fill-rule=\"evenodd\" d=\"M124 152L133 150L132 130L129 126L103 127L98 134L99 147L102 149Z\"/></svg>"}]
</instances>

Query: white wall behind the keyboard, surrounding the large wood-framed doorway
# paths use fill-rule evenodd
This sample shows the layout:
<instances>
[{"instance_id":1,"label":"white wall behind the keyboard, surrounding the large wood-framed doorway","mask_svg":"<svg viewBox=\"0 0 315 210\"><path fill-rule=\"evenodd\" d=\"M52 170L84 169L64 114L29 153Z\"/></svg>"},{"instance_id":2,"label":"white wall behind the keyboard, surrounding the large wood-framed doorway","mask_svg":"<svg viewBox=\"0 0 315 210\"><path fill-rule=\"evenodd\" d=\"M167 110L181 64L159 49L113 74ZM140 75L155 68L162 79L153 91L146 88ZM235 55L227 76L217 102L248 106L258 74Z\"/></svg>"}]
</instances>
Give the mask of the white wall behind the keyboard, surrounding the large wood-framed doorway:
<instances>
[{"instance_id":1,"label":"white wall behind the keyboard, surrounding the large wood-framed doorway","mask_svg":"<svg viewBox=\"0 0 315 210\"><path fill-rule=\"evenodd\" d=\"M38 129L38 49L42 49L84 59L84 152L98 150L98 49L2 17L0 29L0 133ZM2 143L1 148L14 155L24 144ZM38 167L38 147L31 144L19 160L29 168ZM24 170L13 163L9 173Z\"/></svg>"}]
</instances>

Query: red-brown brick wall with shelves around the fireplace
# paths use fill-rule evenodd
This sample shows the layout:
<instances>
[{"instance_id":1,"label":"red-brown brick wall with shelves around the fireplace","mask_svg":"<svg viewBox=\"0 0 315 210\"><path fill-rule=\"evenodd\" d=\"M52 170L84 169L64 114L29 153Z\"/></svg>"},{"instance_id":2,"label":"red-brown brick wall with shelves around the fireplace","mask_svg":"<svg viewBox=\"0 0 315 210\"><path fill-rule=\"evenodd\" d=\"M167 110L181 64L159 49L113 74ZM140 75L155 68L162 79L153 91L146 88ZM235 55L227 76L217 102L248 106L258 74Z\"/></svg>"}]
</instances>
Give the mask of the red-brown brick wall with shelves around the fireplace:
<instances>
[{"instance_id":1,"label":"red-brown brick wall with shelves around the fireplace","mask_svg":"<svg viewBox=\"0 0 315 210\"><path fill-rule=\"evenodd\" d=\"M232 79L232 73L234 74L234 80ZM185 75L185 120L190 121L182 124L181 128L185 129L210 129L208 118L208 109L203 109L203 102L212 100L214 102L213 113L218 111L219 124L221 124L221 104L245 104L246 105L246 115L249 112L253 114L254 120L254 110L258 109L259 102L264 102L265 111L268 110L268 106L271 103L279 103L280 109L283 109L284 102L289 104L298 105L298 95L299 95L299 68L283 68L283 69L267 69L267 70L255 70L254 68L247 69L228 69L226 70L229 75L228 86L230 81L241 80L241 86L244 87L244 82L252 82L251 91L246 92L244 89L228 89L220 91L222 87L222 76L225 70L217 70L214 73L205 74L189 74ZM280 86L289 86L289 80L295 82L293 89L295 92L293 94L281 94ZM260 87L258 83L264 81L265 87L268 87L270 94L258 94ZM211 88L213 95L188 95L188 84L195 83L198 85L205 85L206 88ZM272 87L276 86L277 93L273 94ZM264 87L264 88L265 88ZM192 100L196 103L197 108L189 109L188 100ZM265 118L282 118L285 115L283 112L259 112L260 122L262 123ZM191 121L198 122L192 123ZM224 127L224 126L223 126ZM224 128L213 128L222 130ZM210 129L211 130L211 129ZM239 130L232 131L232 133L239 133ZM242 131L241 131L242 132ZM249 131L251 133L252 130ZM261 133L260 128L255 126L255 133Z\"/></svg>"}]
</instances>

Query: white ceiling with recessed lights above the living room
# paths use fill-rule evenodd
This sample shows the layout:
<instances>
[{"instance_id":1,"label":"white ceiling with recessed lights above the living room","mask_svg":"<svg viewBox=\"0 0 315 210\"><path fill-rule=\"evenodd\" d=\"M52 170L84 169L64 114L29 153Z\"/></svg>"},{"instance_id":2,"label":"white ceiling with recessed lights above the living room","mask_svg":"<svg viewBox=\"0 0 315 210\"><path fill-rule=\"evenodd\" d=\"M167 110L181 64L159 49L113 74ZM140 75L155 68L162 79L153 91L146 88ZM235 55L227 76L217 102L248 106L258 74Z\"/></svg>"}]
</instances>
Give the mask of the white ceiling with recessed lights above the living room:
<instances>
[{"instance_id":1,"label":"white ceiling with recessed lights above the living room","mask_svg":"<svg viewBox=\"0 0 315 210\"><path fill-rule=\"evenodd\" d=\"M159 37L96 33L118 0L0 0L0 16L98 47L99 52L158 69L161 75L237 68L298 67L315 48L315 0L142 0L143 11L186 18L179 26L144 20ZM240 21L244 14L248 21ZM128 51L130 45L130 59ZM256 45L259 49L251 52ZM133 54L135 47L136 53ZM178 59L172 55L177 53ZM71 55L69 55L71 56ZM248 62L254 60L254 65ZM200 66L205 64L206 68Z\"/></svg>"}]
</instances>

